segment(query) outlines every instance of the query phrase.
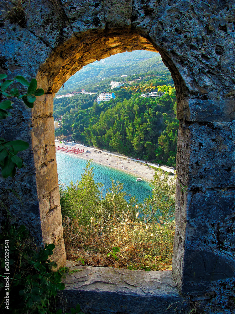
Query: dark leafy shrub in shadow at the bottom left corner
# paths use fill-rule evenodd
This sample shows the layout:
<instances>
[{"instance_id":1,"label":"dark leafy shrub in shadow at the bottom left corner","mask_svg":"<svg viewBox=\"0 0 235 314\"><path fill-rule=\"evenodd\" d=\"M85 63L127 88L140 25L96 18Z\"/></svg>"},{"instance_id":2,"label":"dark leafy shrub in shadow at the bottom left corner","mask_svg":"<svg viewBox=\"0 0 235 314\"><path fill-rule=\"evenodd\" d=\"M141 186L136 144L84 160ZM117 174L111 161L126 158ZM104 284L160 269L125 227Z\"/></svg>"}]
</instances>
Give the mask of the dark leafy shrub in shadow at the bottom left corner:
<instances>
[{"instance_id":1,"label":"dark leafy shrub in shadow at the bottom left corner","mask_svg":"<svg viewBox=\"0 0 235 314\"><path fill-rule=\"evenodd\" d=\"M52 271L56 263L49 259L55 245L46 244L38 250L23 225L5 225L0 239L1 268L10 277L10 313L48 313L57 290L65 288L61 274Z\"/></svg>"}]
</instances>

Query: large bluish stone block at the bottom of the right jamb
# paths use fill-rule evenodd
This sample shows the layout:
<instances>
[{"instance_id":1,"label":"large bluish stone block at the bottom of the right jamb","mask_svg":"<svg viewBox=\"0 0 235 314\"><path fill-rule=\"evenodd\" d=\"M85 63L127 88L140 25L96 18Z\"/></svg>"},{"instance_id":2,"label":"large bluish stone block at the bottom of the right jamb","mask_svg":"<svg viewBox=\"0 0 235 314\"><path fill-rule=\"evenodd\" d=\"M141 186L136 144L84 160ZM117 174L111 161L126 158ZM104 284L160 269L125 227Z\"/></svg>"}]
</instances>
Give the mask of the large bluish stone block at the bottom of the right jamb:
<instances>
[{"instance_id":1,"label":"large bluish stone block at the bottom of the right jamb","mask_svg":"<svg viewBox=\"0 0 235 314\"><path fill-rule=\"evenodd\" d=\"M211 281L234 280L234 207L233 191L187 191L177 181L172 267L183 294L209 293Z\"/></svg>"}]
</instances>

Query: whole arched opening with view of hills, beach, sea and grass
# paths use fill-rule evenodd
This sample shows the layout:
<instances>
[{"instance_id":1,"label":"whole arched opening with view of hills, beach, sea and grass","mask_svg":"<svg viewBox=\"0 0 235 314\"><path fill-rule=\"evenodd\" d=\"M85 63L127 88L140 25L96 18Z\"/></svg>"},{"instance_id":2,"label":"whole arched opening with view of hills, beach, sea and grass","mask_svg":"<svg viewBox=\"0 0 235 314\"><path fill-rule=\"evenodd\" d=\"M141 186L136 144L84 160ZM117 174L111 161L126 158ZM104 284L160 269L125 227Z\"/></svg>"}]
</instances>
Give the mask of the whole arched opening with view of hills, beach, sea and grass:
<instances>
[{"instance_id":1,"label":"whole arched opening with view of hills, beach, sea and grass","mask_svg":"<svg viewBox=\"0 0 235 314\"><path fill-rule=\"evenodd\" d=\"M171 269L179 123L160 54L84 66L55 95L54 125L67 259Z\"/></svg>"}]
</instances>

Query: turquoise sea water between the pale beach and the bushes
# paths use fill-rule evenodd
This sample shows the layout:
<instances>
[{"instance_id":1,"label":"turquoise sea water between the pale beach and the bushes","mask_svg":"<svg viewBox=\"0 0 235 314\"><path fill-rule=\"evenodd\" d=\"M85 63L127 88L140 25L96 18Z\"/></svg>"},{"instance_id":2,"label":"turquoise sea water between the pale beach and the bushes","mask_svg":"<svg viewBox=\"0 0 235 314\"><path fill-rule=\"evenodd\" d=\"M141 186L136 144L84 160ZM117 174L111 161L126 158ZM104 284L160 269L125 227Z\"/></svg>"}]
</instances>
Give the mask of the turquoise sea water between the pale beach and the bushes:
<instances>
[{"instance_id":1,"label":"turquoise sea water between the pale beach and the bushes","mask_svg":"<svg viewBox=\"0 0 235 314\"><path fill-rule=\"evenodd\" d=\"M71 180L74 183L81 180L81 174L87 163L85 159L56 151L56 161L59 184L69 185ZM112 178L114 181L123 183L123 190L138 198L139 202L143 202L144 198L151 195L151 187L147 181L136 182L136 176L95 162L92 162L92 166L95 181L104 184L104 191L112 186Z\"/></svg>"}]
</instances>

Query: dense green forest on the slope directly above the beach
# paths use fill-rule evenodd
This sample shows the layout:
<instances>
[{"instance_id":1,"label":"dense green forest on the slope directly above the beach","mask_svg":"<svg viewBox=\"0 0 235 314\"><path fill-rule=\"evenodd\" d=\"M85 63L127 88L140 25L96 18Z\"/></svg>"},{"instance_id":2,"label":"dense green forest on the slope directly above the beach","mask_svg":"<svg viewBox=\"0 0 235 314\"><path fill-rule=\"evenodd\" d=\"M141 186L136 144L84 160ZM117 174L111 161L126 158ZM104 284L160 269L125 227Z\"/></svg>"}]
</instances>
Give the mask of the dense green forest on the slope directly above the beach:
<instances>
[{"instance_id":1,"label":"dense green forest on the slope directly above the beach","mask_svg":"<svg viewBox=\"0 0 235 314\"><path fill-rule=\"evenodd\" d=\"M175 166L179 124L171 82L170 75L143 77L124 84L115 99L100 105L94 102L97 95L55 99L54 118L64 115L55 136ZM165 95L141 97L157 89Z\"/></svg>"}]
</instances>

